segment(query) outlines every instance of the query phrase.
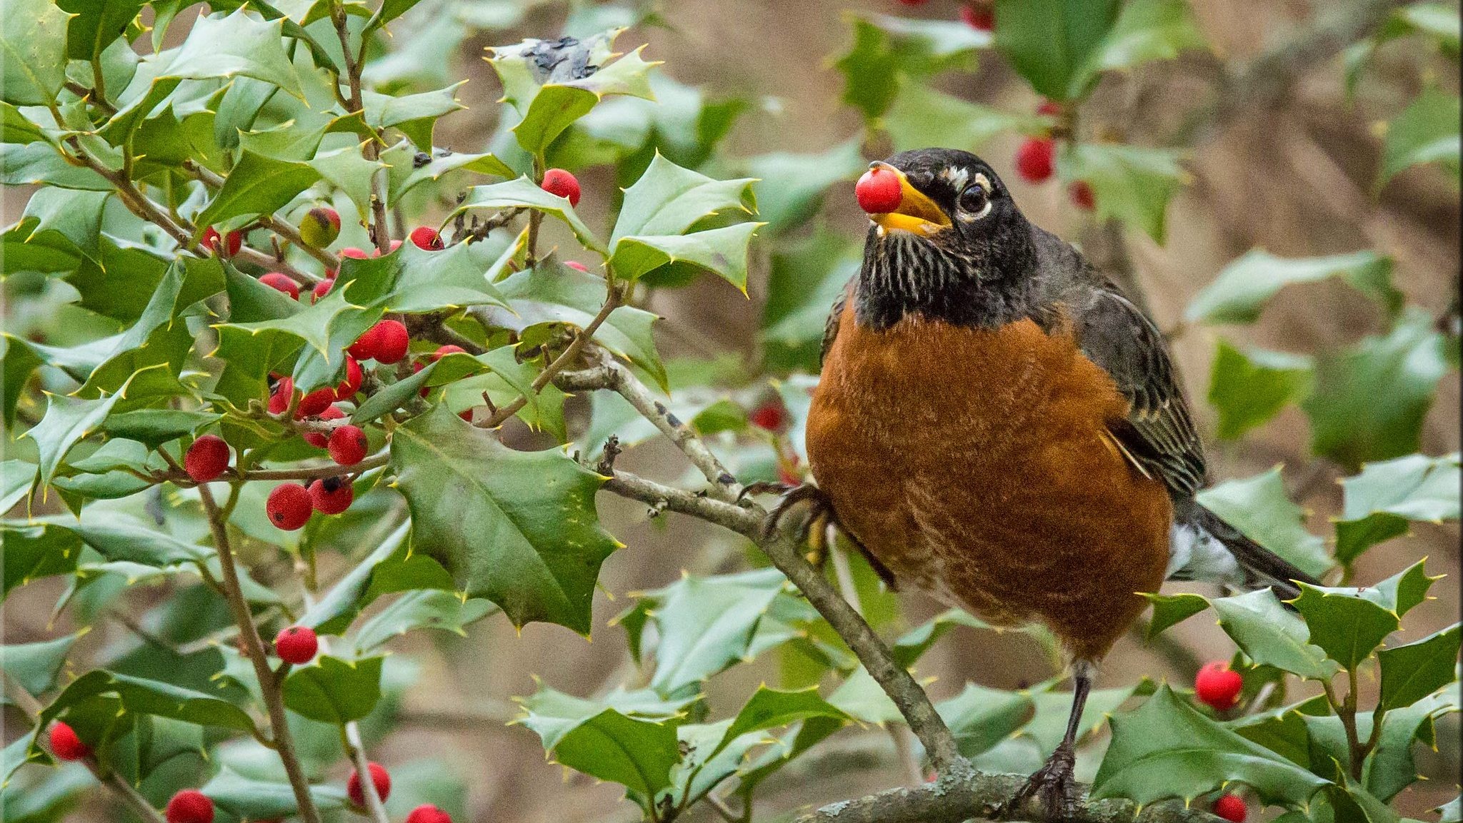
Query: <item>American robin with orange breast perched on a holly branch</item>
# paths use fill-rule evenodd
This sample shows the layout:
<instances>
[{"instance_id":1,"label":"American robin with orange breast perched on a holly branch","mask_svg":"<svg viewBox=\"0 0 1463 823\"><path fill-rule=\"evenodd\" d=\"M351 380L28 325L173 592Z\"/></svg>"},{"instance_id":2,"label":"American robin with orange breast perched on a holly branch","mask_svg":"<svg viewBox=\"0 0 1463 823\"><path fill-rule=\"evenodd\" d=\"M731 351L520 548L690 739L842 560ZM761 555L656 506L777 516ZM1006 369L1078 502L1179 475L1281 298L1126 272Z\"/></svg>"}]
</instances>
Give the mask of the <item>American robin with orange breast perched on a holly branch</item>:
<instances>
[{"instance_id":1,"label":"American robin with orange breast perched on a holly branch","mask_svg":"<svg viewBox=\"0 0 1463 823\"><path fill-rule=\"evenodd\" d=\"M898 177L828 317L808 458L828 516L891 583L996 626L1042 623L1069 656L1062 744L1027 781L1071 813L1097 662L1167 579L1315 580L1194 500L1204 450L1163 336L980 158L875 162Z\"/></svg>"}]
</instances>

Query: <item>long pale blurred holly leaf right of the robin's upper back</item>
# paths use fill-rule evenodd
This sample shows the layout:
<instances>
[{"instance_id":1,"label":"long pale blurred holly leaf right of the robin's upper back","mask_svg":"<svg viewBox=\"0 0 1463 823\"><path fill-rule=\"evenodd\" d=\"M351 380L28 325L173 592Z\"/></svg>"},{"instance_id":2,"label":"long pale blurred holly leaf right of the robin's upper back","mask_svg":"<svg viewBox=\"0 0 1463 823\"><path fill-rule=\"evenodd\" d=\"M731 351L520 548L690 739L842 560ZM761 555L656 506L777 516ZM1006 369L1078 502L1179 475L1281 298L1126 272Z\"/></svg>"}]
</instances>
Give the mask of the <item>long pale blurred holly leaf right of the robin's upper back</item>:
<instances>
[{"instance_id":1,"label":"long pale blurred holly leaf right of the robin's upper back","mask_svg":"<svg viewBox=\"0 0 1463 823\"><path fill-rule=\"evenodd\" d=\"M1352 288L1383 304L1388 313L1402 308L1402 292L1391 285L1391 257L1355 251L1328 257L1286 259L1261 249L1225 266L1184 311L1191 323L1254 323L1282 288L1342 278Z\"/></svg>"}]
</instances>

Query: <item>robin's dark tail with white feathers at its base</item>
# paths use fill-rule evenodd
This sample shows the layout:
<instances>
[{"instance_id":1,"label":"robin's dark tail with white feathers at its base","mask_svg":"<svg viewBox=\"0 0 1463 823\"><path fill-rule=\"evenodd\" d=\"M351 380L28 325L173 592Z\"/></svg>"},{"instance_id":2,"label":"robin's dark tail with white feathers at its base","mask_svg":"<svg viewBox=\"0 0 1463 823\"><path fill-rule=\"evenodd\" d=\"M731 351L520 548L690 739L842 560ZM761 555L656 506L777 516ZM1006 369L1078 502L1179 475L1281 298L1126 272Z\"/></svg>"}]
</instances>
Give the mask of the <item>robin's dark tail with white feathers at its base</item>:
<instances>
[{"instance_id":1,"label":"robin's dark tail with white feathers at its base","mask_svg":"<svg viewBox=\"0 0 1463 823\"><path fill-rule=\"evenodd\" d=\"M1170 580L1208 580L1245 591L1270 586L1280 599L1301 593L1296 582L1321 585L1198 503L1186 509L1176 513L1169 541Z\"/></svg>"}]
</instances>

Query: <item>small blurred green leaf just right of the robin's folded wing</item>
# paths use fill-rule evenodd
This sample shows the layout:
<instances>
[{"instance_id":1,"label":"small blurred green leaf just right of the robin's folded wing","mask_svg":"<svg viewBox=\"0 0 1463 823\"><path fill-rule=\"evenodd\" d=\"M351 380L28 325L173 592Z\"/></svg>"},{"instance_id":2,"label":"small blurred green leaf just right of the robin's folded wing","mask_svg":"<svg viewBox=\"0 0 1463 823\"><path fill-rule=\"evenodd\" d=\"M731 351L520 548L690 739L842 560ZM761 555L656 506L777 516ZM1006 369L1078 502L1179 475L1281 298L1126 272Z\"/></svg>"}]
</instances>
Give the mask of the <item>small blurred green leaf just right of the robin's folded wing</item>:
<instances>
[{"instance_id":1,"label":"small blurred green leaf just right of the robin's folded wing","mask_svg":"<svg viewBox=\"0 0 1463 823\"><path fill-rule=\"evenodd\" d=\"M1210 370L1208 403L1219 411L1219 436L1233 440L1270 421L1311 390L1315 361L1280 351L1241 351L1219 341Z\"/></svg>"}]
</instances>

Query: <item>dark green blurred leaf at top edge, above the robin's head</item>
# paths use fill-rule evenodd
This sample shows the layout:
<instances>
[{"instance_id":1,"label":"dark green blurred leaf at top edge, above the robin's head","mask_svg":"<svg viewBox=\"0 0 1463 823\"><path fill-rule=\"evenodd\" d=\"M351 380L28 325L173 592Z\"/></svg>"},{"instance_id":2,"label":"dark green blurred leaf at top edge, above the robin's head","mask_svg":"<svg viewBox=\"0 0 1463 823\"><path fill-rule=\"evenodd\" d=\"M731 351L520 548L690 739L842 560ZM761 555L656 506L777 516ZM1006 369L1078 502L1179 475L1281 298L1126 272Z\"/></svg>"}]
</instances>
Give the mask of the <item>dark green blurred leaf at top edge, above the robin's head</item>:
<instances>
[{"instance_id":1,"label":"dark green blurred leaf at top edge, above the robin's head","mask_svg":"<svg viewBox=\"0 0 1463 823\"><path fill-rule=\"evenodd\" d=\"M996 48L1036 94L1067 101L1118 19L1116 0L996 0ZM1093 186L1096 189L1096 186ZM1102 203L1102 193L1097 193Z\"/></svg>"}]
</instances>

